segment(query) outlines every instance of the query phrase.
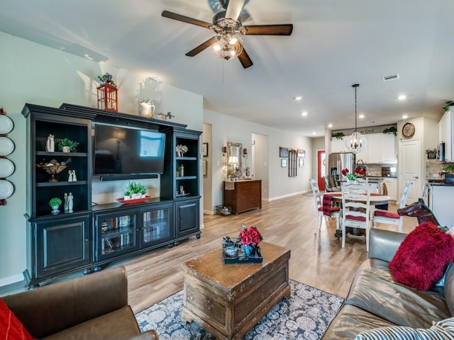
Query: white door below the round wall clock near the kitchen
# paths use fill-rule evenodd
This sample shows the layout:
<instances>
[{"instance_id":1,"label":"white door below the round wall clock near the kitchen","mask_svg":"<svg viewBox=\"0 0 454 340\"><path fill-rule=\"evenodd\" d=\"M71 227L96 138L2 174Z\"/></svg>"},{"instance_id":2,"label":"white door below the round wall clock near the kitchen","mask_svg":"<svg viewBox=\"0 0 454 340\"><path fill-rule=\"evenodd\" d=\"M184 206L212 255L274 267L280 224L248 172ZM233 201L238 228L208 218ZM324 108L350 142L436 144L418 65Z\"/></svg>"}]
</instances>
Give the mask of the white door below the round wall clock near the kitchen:
<instances>
[{"instance_id":1,"label":"white door below the round wall clock near the kitchen","mask_svg":"<svg viewBox=\"0 0 454 340\"><path fill-rule=\"evenodd\" d=\"M403 141L400 145L399 197L402 196L406 181L412 181L406 204L411 204L421 196L421 141Z\"/></svg>"}]
</instances>

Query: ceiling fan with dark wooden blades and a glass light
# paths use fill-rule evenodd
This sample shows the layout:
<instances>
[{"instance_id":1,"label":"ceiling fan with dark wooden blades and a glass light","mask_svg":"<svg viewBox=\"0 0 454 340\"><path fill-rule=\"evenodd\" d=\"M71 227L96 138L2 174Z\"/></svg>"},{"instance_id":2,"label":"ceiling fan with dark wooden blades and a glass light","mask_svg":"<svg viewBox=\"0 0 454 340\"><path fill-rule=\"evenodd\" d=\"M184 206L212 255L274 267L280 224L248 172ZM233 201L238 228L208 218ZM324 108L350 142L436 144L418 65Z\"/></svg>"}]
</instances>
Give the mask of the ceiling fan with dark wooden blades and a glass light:
<instances>
[{"instance_id":1,"label":"ceiling fan with dark wooden blades and a glass light","mask_svg":"<svg viewBox=\"0 0 454 340\"><path fill-rule=\"evenodd\" d=\"M241 35L291 35L293 25L248 25L243 26L240 21L240 12L243 9L245 0L219 0L221 6L226 11L216 13L213 17L213 23L207 23L188 16L173 13L170 11L162 11L162 16L165 18L191 23L192 25L201 26L214 30L216 35L209 40L201 43L201 45L186 53L188 57L194 57L207 47L213 45L214 52L218 57L225 60L231 60L238 57L240 63L246 69L253 65L252 60L243 47Z\"/></svg>"}]
</instances>

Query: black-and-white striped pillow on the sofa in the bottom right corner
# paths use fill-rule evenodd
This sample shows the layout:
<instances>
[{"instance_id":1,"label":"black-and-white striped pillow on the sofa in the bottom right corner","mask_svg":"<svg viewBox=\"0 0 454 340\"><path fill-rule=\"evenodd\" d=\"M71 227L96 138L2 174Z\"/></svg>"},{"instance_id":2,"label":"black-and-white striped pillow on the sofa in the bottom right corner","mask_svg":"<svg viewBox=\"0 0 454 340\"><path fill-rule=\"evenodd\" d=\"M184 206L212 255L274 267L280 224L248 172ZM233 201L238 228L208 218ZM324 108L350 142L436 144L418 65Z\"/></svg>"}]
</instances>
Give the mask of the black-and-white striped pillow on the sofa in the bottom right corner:
<instances>
[{"instance_id":1,"label":"black-and-white striped pillow on the sofa in the bottom right corner","mask_svg":"<svg viewBox=\"0 0 454 340\"><path fill-rule=\"evenodd\" d=\"M394 326L362 331L355 340L454 340L454 317L434 322L429 329Z\"/></svg>"}]
</instances>

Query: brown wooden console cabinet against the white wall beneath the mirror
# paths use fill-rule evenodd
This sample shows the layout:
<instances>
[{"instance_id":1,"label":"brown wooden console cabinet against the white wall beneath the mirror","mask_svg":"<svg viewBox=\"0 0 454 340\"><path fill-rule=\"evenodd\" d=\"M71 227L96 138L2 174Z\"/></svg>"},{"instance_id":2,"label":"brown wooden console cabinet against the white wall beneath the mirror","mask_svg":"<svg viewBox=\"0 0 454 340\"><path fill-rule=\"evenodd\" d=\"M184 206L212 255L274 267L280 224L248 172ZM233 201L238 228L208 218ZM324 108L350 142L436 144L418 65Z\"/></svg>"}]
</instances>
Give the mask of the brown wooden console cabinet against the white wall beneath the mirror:
<instances>
[{"instance_id":1,"label":"brown wooden console cabinet against the white wall beneath the mirror","mask_svg":"<svg viewBox=\"0 0 454 340\"><path fill-rule=\"evenodd\" d=\"M223 182L223 205L238 215L262 208L262 180L238 180Z\"/></svg>"}]
</instances>

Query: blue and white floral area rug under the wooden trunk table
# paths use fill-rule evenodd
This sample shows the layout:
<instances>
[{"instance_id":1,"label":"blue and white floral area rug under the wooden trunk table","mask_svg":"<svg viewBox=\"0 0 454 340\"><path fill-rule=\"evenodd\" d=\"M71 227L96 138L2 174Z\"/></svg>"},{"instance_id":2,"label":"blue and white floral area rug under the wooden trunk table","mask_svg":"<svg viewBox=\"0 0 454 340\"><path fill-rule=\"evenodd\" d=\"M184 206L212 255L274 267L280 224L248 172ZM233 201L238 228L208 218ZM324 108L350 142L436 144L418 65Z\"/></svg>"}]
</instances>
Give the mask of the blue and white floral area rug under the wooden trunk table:
<instances>
[{"instance_id":1,"label":"blue and white floral area rug under the wooden trunk table","mask_svg":"<svg viewBox=\"0 0 454 340\"><path fill-rule=\"evenodd\" d=\"M290 280L292 296L282 298L265 317L245 335L246 340L318 340L337 314L343 298L304 283ZM183 291L179 291L147 310L135 314L140 329L155 329L160 340L215 339L208 331L181 319Z\"/></svg>"}]
</instances>

